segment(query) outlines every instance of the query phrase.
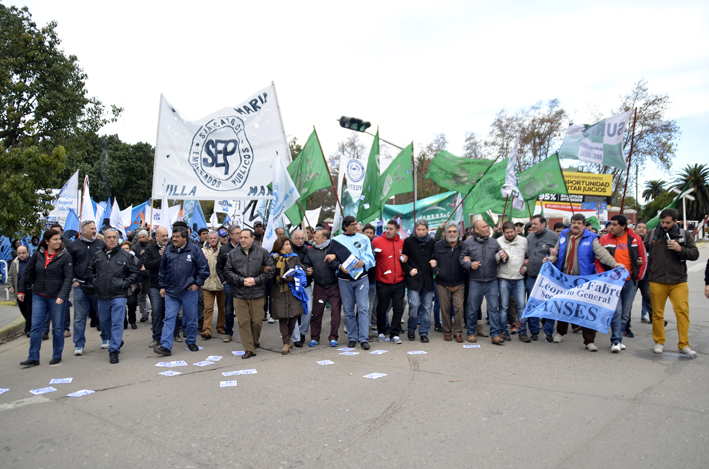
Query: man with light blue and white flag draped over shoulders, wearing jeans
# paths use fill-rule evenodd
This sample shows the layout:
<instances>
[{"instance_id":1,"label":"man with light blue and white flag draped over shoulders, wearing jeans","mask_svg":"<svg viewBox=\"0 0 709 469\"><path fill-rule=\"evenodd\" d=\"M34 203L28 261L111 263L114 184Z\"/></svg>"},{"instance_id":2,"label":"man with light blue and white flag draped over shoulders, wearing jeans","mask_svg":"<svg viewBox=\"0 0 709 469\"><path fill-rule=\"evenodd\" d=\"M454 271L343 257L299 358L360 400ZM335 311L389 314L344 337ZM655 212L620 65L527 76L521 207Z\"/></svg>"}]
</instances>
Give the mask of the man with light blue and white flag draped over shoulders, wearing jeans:
<instances>
[{"instance_id":1,"label":"man with light blue and white flag draped over shoulders, wearing jeans","mask_svg":"<svg viewBox=\"0 0 709 469\"><path fill-rule=\"evenodd\" d=\"M352 215L342 220L344 233L330 243L329 262L337 271L342 306L345 310L348 347L359 340L364 350L369 350L369 279L366 271L374 267L374 254L366 235L357 233L357 220ZM355 304L358 317L355 318Z\"/></svg>"}]
</instances>

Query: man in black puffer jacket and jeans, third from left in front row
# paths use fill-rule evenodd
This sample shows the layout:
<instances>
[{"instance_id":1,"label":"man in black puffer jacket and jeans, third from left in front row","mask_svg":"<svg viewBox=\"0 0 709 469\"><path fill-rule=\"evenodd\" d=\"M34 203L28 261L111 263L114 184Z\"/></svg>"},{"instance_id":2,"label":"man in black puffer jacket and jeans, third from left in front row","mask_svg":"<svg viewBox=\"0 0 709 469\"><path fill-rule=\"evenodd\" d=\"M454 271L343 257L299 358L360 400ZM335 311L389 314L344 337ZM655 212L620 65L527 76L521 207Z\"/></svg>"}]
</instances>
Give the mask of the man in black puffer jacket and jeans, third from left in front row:
<instances>
[{"instance_id":1,"label":"man in black puffer jacket and jeans, third from left in front row","mask_svg":"<svg viewBox=\"0 0 709 469\"><path fill-rule=\"evenodd\" d=\"M126 317L128 289L138 280L138 265L133 255L118 245L118 230L105 231L106 246L94 255L89 267L89 279L98 297L101 330L108 335L109 360L118 363L123 345L123 321Z\"/></svg>"}]
</instances>

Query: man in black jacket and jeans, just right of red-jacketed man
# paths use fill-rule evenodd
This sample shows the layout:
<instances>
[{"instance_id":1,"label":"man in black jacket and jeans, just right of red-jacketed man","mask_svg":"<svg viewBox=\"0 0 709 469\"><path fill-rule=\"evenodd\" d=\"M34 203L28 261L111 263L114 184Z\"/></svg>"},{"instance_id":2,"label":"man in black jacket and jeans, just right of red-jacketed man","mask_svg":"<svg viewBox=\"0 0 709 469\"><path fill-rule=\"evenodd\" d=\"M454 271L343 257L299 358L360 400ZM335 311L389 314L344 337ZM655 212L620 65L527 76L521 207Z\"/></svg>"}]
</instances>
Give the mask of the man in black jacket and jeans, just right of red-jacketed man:
<instances>
[{"instance_id":1,"label":"man in black jacket and jeans, just right of red-jacketed man","mask_svg":"<svg viewBox=\"0 0 709 469\"><path fill-rule=\"evenodd\" d=\"M437 262L433 259L434 241L428 233L428 221L416 221L415 234L404 240L403 254L408 261L403 264L404 286L409 293L409 340L416 338L418 315L421 316L419 336L421 342L428 342L428 331L431 329L431 307L433 305L433 268ZM423 312L419 311L423 306Z\"/></svg>"}]
</instances>

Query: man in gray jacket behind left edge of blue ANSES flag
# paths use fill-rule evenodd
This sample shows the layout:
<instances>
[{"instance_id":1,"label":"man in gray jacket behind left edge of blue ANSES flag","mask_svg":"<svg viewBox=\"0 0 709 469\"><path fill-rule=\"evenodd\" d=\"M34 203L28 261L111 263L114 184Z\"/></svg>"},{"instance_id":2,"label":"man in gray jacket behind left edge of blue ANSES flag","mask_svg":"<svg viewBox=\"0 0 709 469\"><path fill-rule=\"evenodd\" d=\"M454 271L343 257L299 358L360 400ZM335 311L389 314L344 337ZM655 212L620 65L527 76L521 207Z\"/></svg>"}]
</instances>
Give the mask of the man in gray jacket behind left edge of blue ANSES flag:
<instances>
[{"instance_id":1,"label":"man in gray jacket behind left edge of blue ANSES flag","mask_svg":"<svg viewBox=\"0 0 709 469\"><path fill-rule=\"evenodd\" d=\"M539 276L539 271L542 269L542 264L544 259L549 257L551 250L559 242L559 235L554 231L547 229L547 221L542 215L534 215L532 217L532 230L527 235L527 262L525 263L527 267L527 298L534 288L534 284ZM531 340L539 340L539 331L541 327L539 325L539 318L527 318L527 324L529 325L529 333L531 334ZM554 321L547 319L544 323L545 332L548 333L547 336L551 337L554 332ZM526 332L526 328L523 330L520 328L520 333Z\"/></svg>"}]
</instances>

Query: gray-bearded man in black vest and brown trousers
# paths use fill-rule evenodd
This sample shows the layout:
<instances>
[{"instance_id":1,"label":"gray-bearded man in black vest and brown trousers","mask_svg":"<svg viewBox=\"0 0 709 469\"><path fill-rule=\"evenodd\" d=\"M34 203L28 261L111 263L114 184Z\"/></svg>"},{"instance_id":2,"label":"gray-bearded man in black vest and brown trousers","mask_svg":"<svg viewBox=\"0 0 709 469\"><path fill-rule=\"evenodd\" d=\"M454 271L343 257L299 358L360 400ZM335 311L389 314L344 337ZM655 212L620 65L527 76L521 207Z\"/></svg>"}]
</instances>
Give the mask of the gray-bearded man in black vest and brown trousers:
<instances>
[{"instance_id":1,"label":"gray-bearded man in black vest and brown trousers","mask_svg":"<svg viewBox=\"0 0 709 469\"><path fill-rule=\"evenodd\" d=\"M463 243L460 242L458 225L449 222L445 229L445 239L433 247L433 259L438 264L436 272L436 291L441 303L441 324L443 340L463 342L463 304L465 302L465 270L458 262ZM450 310L453 303L453 325L451 327ZM452 336L451 336L452 333Z\"/></svg>"}]
</instances>

